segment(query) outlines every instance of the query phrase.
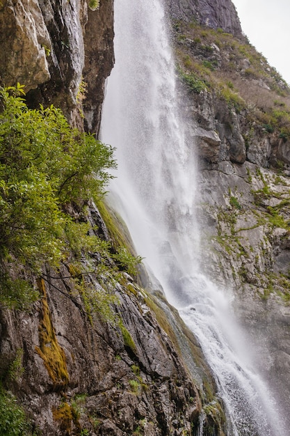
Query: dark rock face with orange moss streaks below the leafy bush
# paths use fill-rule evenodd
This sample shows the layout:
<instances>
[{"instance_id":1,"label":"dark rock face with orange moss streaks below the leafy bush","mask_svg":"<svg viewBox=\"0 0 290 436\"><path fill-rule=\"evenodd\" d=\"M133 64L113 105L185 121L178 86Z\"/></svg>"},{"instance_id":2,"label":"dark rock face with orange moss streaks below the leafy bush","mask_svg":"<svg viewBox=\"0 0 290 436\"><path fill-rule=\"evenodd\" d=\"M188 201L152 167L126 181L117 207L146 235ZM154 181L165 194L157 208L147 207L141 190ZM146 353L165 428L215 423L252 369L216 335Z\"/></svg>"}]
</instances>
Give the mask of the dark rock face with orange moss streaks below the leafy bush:
<instances>
[{"instance_id":1,"label":"dark rock face with orange moss streaks below the leafy bush","mask_svg":"<svg viewBox=\"0 0 290 436\"><path fill-rule=\"evenodd\" d=\"M99 226L95 212L90 221L97 217ZM202 362L200 347L177 311L147 295L128 274L111 288L110 313L106 304L102 311L105 291L90 273L84 277L99 301L97 311L89 312L71 271L63 265L58 274L42 272L42 298L30 313L0 311L0 379L33 428L47 436L198 434L202 407L218 401L207 366L196 363ZM222 431L217 411L203 419L204 435Z\"/></svg>"}]
</instances>

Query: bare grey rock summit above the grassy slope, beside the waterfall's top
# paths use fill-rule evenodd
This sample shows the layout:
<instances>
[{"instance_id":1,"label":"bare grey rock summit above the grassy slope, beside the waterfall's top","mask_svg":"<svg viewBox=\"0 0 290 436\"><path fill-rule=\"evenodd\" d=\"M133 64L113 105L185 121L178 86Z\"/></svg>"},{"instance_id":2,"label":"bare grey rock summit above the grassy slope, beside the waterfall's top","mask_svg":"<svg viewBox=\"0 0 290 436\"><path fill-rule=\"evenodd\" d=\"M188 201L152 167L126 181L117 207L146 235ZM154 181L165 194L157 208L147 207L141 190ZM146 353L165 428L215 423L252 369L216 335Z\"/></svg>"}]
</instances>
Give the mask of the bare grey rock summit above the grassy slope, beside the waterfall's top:
<instances>
[{"instance_id":1,"label":"bare grey rock summit above the grassy slope, beside the waterfall's top","mask_svg":"<svg viewBox=\"0 0 290 436\"><path fill-rule=\"evenodd\" d=\"M231 0L166 0L175 20L198 20L213 29L241 36L241 24Z\"/></svg>"}]
</instances>

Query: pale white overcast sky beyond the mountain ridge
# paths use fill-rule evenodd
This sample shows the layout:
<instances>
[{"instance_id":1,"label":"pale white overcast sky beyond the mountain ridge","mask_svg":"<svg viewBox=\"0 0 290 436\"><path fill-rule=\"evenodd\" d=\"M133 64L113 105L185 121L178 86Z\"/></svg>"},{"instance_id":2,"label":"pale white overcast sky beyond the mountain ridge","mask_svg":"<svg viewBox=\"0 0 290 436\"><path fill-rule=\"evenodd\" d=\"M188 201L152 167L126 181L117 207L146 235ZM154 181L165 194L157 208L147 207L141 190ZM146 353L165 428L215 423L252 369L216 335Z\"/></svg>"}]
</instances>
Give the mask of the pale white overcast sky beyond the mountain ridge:
<instances>
[{"instance_id":1,"label":"pale white overcast sky beyond the mountain ridge","mask_svg":"<svg viewBox=\"0 0 290 436\"><path fill-rule=\"evenodd\" d=\"M290 0L232 0L243 33L290 84Z\"/></svg>"}]
</instances>

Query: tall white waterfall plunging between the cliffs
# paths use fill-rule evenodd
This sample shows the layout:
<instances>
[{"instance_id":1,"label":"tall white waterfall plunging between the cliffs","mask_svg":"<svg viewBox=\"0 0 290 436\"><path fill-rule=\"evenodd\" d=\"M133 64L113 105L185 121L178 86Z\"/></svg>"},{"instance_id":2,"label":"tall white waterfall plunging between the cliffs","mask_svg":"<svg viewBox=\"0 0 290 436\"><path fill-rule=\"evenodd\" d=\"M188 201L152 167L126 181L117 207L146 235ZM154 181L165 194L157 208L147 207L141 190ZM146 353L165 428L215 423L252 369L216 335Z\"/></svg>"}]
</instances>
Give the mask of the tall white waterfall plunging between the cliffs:
<instances>
[{"instance_id":1,"label":"tall white waterfall plunging between the cliffs","mask_svg":"<svg viewBox=\"0 0 290 436\"><path fill-rule=\"evenodd\" d=\"M198 265L194 144L178 105L160 0L115 0L115 68L106 89L102 140L116 148L118 172L110 188L115 208L153 286L163 288L202 346L225 404L227 436L286 436L227 291Z\"/></svg>"}]
</instances>

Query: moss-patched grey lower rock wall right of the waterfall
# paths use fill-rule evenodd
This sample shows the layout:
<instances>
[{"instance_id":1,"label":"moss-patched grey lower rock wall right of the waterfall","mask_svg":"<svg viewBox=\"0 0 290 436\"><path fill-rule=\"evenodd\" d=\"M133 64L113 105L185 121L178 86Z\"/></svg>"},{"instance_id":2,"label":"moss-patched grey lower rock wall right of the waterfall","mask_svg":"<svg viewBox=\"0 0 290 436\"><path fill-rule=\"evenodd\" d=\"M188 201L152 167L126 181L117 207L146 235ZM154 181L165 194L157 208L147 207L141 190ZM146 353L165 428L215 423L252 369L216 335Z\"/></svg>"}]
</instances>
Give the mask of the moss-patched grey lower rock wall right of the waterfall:
<instances>
[{"instance_id":1,"label":"moss-patched grey lower rock wall right of the waterfall","mask_svg":"<svg viewBox=\"0 0 290 436\"><path fill-rule=\"evenodd\" d=\"M256 164L220 162L199 183L204 271L234 295L234 310L248 332L287 420L289 398L289 177ZM207 255L206 255L207 254ZM279 368L279 371L277 371Z\"/></svg>"}]
</instances>

